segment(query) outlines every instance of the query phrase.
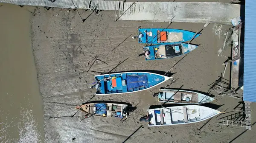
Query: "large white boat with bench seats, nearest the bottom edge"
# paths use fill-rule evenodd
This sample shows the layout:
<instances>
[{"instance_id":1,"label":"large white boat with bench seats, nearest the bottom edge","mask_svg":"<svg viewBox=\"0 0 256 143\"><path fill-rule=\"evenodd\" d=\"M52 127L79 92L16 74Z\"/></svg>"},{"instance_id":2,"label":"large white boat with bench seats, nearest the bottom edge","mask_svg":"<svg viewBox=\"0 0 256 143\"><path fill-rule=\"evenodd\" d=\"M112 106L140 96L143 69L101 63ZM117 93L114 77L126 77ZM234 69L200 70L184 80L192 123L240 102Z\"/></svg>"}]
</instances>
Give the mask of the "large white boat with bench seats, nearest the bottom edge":
<instances>
[{"instance_id":1,"label":"large white boat with bench seats, nearest the bottom edge","mask_svg":"<svg viewBox=\"0 0 256 143\"><path fill-rule=\"evenodd\" d=\"M185 105L148 109L148 126L169 126L197 123L207 120L221 112L200 105Z\"/></svg>"}]
</instances>

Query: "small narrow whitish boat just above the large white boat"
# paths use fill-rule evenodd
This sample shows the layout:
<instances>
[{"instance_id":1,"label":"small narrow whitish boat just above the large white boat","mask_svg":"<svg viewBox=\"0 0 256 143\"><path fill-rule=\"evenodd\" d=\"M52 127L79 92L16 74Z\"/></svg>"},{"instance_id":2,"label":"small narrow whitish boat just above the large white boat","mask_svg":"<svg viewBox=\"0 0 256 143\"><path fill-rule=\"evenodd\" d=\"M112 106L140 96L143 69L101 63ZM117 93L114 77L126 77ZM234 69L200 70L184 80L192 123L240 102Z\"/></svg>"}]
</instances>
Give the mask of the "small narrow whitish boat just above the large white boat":
<instances>
[{"instance_id":1,"label":"small narrow whitish boat just above the large white boat","mask_svg":"<svg viewBox=\"0 0 256 143\"><path fill-rule=\"evenodd\" d=\"M158 101L177 104L204 104L214 101L214 98L189 90L160 89Z\"/></svg>"}]
</instances>

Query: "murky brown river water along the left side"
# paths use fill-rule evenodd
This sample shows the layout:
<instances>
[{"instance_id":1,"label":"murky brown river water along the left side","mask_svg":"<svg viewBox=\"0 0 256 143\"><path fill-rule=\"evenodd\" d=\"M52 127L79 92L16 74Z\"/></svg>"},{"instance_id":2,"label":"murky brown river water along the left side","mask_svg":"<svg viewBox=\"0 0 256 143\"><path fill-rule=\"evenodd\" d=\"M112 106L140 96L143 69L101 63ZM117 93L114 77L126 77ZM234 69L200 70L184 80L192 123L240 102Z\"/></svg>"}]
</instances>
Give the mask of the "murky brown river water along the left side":
<instances>
[{"instance_id":1,"label":"murky brown river water along the left side","mask_svg":"<svg viewBox=\"0 0 256 143\"><path fill-rule=\"evenodd\" d=\"M31 17L26 8L0 3L0 143L44 142Z\"/></svg>"}]
</instances>

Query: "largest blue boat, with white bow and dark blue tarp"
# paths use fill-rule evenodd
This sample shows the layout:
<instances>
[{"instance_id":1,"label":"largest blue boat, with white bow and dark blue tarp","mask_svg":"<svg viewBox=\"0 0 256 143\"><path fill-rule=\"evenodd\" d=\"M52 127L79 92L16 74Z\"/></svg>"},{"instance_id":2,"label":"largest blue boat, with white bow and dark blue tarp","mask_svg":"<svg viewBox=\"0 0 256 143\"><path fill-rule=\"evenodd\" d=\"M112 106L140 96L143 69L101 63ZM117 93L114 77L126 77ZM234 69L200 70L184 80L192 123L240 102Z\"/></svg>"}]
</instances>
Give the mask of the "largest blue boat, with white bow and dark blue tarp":
<instances>
[{"instance_id":1,"label":"largest blue boat, with white bow and dark blue tarp","mask_svg":"<svg viewBox=\"0 0 256 143\"><path fill-rule=\"evenodd\" d=\"M96 95L134 93L147 90L170 77L148 72L125 72L95 76L97 85Z\"/></svg>"}]
</instances>

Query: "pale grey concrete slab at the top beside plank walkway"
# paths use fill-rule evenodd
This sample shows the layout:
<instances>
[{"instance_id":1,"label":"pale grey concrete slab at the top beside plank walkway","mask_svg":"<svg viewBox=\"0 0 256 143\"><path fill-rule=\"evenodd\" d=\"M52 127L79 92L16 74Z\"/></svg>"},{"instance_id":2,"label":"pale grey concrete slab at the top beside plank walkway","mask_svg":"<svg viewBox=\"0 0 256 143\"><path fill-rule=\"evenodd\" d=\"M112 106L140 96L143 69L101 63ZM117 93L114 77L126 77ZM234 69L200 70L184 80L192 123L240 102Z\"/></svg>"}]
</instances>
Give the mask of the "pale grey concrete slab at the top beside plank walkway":
<instances>
[{"instance_id":1,"label":"pale grey concrete slab at the top beside plank walkway","mask_svg":"<svg viewBox=\"0 0 256 143\"><path fill-rule=\"evenodd\" d=\"M240 16L240 5L215 2L137 2L124 3L119 20L156 22L220 22L229 23ZM129 8L130 7L130 8ZM119 17L118 16L118 17Z\"/></svg>"}]
</instances>

